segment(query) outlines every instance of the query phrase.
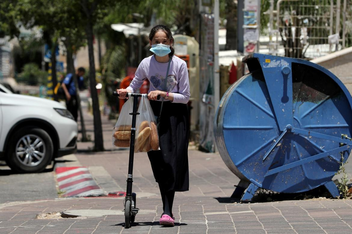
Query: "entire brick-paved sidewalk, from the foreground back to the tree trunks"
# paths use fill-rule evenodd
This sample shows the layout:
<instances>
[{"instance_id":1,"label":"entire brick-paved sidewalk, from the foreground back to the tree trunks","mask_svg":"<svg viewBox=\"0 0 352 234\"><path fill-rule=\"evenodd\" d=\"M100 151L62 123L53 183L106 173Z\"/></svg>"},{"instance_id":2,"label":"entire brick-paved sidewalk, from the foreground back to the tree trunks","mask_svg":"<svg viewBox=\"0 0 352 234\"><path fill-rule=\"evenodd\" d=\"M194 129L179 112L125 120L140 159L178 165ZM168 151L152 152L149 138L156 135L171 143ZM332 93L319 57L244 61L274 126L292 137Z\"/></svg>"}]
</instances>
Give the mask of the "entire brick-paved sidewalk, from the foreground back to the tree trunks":
<instances>
[{"instance_id":1,"label":"entire brick-paved sidewalk, from the foreground back to the tree trunks","mask_svg":"<svg viewBox=\"0 0 352 234\"><path fill-rule=\"evenodd\" d=\"M93 137L92 118L86 116L87 129ZM102 121L104 143L109 150L80 150L64 157L58 165L87 167L102 189L124 191L128 150L108 148L112 124L106 117ZM89 144L92 145L79 143L78 148ZM352 200L319 198L240 204L229 198L239 179L218 154L189 150L189 171L190 190L175 195L176 219L172 228L158 225L162 213L159 190L147 155L138 153L133 191L137 193L140 212L130 229L124 228L122 197L95 197L0 204L0 233L352 233ZM63 218L59 216L62 211L84 215Z\"/></svg>"}]
</instances>

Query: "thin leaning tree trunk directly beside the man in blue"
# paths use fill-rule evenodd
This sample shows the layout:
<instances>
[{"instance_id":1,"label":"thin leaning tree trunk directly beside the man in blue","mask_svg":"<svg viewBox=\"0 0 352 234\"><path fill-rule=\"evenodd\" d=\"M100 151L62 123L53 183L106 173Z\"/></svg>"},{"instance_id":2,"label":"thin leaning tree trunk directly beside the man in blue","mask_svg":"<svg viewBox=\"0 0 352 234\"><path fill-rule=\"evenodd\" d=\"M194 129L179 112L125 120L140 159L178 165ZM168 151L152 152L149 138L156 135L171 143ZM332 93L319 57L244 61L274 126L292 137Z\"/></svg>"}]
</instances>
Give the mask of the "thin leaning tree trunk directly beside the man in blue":
<instances>
[{"instance_id":1,"label":"thin leaning tree trunk directly beside the man in blue","mask_svg":"<svg viewBox=\"0 0 352 234\"><path fill-rule=\"evenodd\" d=\"M67 73L72 73L73 78L75 80L77 105L78 105L78 109L80 110L82 142L87 142L88 139L87 139L87 134L86 134L86 126L84 125L84 118L83 118L81 98L80 98L80 90L79 90L79 86L78 86L77 76L75 76L75 65L74 65L73 56L72 56L72 46L71 46L71 43L69 40L70 39L67 38L67 42L65 43L66 50L67 50L67 55L66 55Z\"/></svg>"}]
</instances>

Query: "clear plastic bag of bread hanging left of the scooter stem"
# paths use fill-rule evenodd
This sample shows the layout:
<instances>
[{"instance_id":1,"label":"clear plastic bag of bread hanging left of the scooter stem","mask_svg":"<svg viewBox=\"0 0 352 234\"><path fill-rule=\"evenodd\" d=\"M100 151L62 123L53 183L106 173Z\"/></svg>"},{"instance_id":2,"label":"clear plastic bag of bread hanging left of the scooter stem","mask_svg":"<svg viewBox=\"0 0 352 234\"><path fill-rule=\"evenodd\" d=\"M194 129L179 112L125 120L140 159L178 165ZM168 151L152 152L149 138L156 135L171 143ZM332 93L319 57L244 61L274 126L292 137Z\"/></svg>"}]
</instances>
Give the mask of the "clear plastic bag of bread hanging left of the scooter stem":
<instances>
[{"instance_id":1,"label":"clear plastic bag of bread hanging left of the scooter stem","mask_svg":"<svg viewBox=\"0 0 352 234\"><path fill-rule=\"evenodd\" d=\"M133 112L133 98L128 96L128 100L122 106L119 118L114 127L112 134L112 143L116 147L130 147L132 115Z\"/></svg>"}]
</instances>

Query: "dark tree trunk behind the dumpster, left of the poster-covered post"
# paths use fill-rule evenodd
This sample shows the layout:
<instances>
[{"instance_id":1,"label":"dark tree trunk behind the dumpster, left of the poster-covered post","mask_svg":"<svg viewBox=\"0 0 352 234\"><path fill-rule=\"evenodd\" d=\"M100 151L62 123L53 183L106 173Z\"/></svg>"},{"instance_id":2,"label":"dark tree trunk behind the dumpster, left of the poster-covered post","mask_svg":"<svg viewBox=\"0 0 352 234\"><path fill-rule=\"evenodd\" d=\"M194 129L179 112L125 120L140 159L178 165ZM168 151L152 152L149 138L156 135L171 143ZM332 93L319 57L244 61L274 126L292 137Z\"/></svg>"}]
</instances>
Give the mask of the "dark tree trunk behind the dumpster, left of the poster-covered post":
<instances>
[{"instance_id":1,"label":"dark tree trunk behind the dumpster, left of the poster-covered post","mask_svg":"<svg viewBox=\"0 0 352 234\"><path fill-rule=\"evenodd\" d=\"M237 50L237 4L226 0L226 45L225 50Z\"/></svg>"}]
</instances>

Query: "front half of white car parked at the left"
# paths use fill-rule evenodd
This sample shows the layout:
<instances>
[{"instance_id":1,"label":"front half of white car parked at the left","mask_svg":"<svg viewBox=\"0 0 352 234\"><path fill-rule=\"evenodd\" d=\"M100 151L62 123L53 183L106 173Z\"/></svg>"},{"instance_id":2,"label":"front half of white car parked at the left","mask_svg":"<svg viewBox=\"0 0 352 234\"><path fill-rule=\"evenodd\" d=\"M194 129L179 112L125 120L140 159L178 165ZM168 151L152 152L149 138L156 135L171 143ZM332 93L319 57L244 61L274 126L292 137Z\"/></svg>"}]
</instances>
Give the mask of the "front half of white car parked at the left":
<instances>
[{"instance_id":1,"label":"front half of white car parked at the left","mask_svg":"<svg viewBox=\"0 0 352 234\"><path fill-rule=\"evenodd\" d=\"M14 94L0 84L0 160L18 172L40 172L76 152L77 123L60 103Z\"/></svg>"}]
</instances>

